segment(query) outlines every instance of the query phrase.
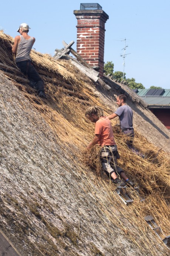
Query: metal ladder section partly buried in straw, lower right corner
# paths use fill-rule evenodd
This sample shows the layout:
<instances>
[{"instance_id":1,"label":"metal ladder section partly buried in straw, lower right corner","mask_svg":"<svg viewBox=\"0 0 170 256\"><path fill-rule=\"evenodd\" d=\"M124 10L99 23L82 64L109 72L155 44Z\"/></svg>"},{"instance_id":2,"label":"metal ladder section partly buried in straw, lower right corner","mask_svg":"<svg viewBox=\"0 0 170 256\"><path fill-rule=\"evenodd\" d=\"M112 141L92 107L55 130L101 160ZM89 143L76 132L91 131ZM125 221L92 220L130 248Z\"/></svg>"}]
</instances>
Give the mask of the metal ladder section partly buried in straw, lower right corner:
<instances>
[{"instance_id":1,"label":"metal ladder section partly buried in straw, lower right corner","mask_svg":"<svg viewBox=\"0 0 170 256\"><path fill-rule=\"evenodd\" d=\"M156 235L159 237L160 240L170 249L170 236L166 236L163 233L162 229L157 226L156 222L154 221L154 218L152 215L144 217L144 220L146 220L149 227L156 233ZM162 239L162 237L165 237Z\"/></svg>"}]
</instances>

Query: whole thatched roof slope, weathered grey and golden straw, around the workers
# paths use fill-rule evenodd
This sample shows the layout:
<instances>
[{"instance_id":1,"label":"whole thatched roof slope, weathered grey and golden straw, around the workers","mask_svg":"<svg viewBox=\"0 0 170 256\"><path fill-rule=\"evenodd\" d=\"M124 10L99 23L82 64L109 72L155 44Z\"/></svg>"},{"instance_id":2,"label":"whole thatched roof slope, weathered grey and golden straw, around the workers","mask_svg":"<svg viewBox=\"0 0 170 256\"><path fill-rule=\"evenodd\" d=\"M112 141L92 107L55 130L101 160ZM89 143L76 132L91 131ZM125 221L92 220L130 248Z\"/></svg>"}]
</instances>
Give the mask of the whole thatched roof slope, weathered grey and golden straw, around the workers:
<instances>
[{"instance_id":1,"label":"whole thatched roof slope, weathered grey and golden straw, around the workers","mask_svg":"<svg viewBox=\"0 0 170 256\"><path fill-rule=\"evenodd\" d=\"M9 40L0 33L0 62L12 65ZM147 160L133 154L116 129L119 164L140 185L146 200L140 202L129 189L134 203L125 206L114 192L115 185L96 175L101 171L98 148L89 153L91 157L85 154L94 130L84 117L86 104L102 106L109 114L116 108L114 95L120 91L112 89L108 95L66 60L55 61L35 52L32 58L37 68L56 79L46 84L47 101L0 72L3 232L22 256L169 255L143 220L154 216L169 235L169 131L149 110L129 102L137 131L134 144ZM69 85L74 86L70 93ZM157 155L163 145L167 152ZM84 163L92 155L96 157L93 170Z\"/></svg>"}]
</instances>

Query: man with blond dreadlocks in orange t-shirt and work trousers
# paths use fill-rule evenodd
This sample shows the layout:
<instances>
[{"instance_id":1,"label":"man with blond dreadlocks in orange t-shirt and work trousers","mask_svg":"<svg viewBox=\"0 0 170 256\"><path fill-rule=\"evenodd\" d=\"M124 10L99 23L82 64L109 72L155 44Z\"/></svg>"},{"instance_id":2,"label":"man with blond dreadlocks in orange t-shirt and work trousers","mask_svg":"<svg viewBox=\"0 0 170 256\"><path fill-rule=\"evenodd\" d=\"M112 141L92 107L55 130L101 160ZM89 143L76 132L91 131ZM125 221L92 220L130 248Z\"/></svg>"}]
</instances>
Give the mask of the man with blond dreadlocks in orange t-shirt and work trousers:
<instances>
[{"instance_id":1,"label":"man with blond dreadlocks in orange t-shirt and work trousers","mask_svg":"<svg viewBox=\"0 0 170 256\"><path fill-rule=\"evenodd\" d=\"M86 109L86 118L95 123L95 137L88 145L90 149L93 145L99 144L101 149L101 162L105 173L118 186L126 186L126 184L134 187L135 184L126 177L122 168L117 165L117 146L113 136L113 129L108 117L104 116L103 109L98 106L92 106ZM122 181L116 175L119 174Z\"/></svg>"}]
</instances>

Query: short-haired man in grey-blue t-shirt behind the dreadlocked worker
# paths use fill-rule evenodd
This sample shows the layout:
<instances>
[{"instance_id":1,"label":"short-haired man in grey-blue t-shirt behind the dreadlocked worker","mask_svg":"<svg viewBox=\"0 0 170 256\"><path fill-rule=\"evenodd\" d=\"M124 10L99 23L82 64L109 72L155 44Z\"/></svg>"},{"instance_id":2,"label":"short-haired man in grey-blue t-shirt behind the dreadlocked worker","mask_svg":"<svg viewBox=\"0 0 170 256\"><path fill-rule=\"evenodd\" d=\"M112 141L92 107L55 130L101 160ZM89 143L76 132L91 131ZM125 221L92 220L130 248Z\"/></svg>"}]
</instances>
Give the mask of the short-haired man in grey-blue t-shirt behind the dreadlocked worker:
<instances>
[{"instance_id":1,"label":"short-haired man in grey-blue t-shirt behind the dreadlocked worker","mask_svg":"<svg viewBox=\"0 0 170 256\"><path fill-rule=\"evenodd\" d=\"M108 118L111 120L116 116L119 116L122 132L130 138L129 142L127 143L128 148L130 148L130 150L132 150L136 155L144 158L144 155L140 154L140 152L133 147L133 111L132 108L126 104L126 96L124 94L118 95L116 104L119 106L119 108L115 111L115 113L109 115Z\"/></svg>"}]
</instances>

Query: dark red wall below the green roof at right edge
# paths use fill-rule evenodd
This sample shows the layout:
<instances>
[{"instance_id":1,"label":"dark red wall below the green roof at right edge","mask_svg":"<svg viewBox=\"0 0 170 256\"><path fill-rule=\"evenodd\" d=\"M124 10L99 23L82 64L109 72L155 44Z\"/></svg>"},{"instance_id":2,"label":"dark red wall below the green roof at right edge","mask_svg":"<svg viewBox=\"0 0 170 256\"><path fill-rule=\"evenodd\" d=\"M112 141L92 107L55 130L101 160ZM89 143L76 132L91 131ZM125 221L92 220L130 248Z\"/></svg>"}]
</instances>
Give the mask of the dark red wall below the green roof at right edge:
<instances>
[{"instance_id":1,"label":"dark red wall below the green roof at right edge","mask_svg":"<svg viewBox=\"0 0 170 256\"><path fill-rule=\"evenodd\" d=\"M150 111L156 115L167 129L170 129L170 109L150 109Z\"/></svg>"}]
</instances>

